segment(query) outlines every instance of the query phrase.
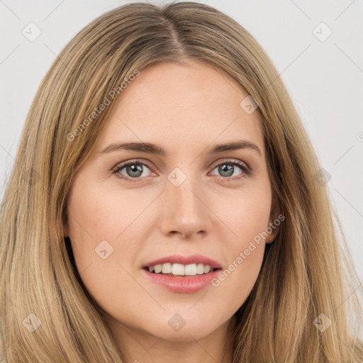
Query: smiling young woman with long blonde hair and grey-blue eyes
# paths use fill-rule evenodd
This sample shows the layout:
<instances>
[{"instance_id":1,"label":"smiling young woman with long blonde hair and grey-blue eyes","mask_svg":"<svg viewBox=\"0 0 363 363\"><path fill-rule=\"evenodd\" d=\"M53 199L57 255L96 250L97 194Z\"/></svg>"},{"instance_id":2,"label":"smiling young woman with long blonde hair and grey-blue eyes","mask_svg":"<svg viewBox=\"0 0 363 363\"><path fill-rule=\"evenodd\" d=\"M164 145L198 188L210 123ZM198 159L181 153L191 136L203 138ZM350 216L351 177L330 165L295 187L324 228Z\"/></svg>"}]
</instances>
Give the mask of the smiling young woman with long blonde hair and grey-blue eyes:
<instances>
[{"instance_id":1,"label":"smiling young woman with long blonde hair and grey-blue eyes","mask_svg":"<svg viewBox=\"0 0 363 363\"><path fill-rule=\"evenodd\" d=\"M4 359L363 362L319 171L231 18L192 2L96 18L40 84L2 203Z\"/></svg>"}]
</instances>

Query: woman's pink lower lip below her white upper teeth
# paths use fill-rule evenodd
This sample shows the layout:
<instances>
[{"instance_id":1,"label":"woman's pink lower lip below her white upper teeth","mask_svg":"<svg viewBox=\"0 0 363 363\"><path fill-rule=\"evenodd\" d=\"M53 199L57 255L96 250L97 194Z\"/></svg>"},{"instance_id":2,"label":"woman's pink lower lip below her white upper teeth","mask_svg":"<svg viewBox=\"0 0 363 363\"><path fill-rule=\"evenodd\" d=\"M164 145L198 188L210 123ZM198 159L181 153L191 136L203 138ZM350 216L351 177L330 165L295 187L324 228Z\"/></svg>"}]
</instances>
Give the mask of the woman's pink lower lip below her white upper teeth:
<instances>
[{"instance_id":1,"label":"woman's pink lower lip below her white upper teeth","mask_svg":"<svg viewBox=\"0 0 363 363\"><path fill-rule=\"evenodd\" d=\"M153 274L152 272L142 269L145 276L154 281L156 284L160 284L165 289L179 293L193 293L206 288L211 285L211 281L220 274L220 269L215 269L208 274L196 275L191 277L179 277L179 276L167 276L164 274Z\"/></svg>"}]
</instances>

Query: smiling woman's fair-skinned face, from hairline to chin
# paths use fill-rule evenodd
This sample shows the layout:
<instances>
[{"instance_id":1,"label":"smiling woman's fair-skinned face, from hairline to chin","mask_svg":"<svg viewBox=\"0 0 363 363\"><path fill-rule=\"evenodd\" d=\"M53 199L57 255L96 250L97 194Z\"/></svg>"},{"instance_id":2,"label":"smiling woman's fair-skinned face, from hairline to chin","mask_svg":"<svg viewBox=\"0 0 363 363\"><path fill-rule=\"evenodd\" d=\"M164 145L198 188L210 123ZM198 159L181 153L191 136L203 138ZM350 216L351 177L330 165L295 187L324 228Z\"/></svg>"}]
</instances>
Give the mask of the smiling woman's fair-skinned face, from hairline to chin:
<instances>
[{"instance_id":1,"label":"smiling woman's fair-skinned face, from hairline to chin","mask_svg":"<svg viewBox=\"0 0 363 363\"><path fill-rule=\"evenodd\" d=\"M67 207L77 269L114 326L200 339L250 294L274 236L262 235L273 221L272 190L246 96L232 79L191 62L149 67L118 98ZM255 146L212 152L242 140ZM165 274L144 269L164 257L154 268ZM201 274L207 259L220 270ZM174 276L183 272L189 277Z\"/></svg>"}]
</instances>

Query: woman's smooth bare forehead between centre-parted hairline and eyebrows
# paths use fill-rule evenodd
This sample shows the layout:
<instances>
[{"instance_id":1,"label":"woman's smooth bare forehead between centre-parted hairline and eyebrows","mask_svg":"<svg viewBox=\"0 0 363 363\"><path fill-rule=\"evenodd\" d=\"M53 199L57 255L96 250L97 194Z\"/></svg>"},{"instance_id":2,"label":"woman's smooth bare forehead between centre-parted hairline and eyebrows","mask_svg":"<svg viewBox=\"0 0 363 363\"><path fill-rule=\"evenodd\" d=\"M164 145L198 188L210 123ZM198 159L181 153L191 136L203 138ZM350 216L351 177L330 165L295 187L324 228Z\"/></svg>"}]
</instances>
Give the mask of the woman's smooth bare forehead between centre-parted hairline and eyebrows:
<instances>
[{"instance_id":1,"label":"woman's smooth bare forehead between centre-parted hairline and eyebrows","mask_svg":"<svg viewBox=\"0 0 363 363\"><path fill-rule=\"evenodd\" d=\"M200 62L148 67L116 100L99 136L98 148L112 142L152 142L171 153L200 152L211 143L249 140L264 154L257 112L240 103L247 94L223 72Z\"/></svg>"}]
</instances>

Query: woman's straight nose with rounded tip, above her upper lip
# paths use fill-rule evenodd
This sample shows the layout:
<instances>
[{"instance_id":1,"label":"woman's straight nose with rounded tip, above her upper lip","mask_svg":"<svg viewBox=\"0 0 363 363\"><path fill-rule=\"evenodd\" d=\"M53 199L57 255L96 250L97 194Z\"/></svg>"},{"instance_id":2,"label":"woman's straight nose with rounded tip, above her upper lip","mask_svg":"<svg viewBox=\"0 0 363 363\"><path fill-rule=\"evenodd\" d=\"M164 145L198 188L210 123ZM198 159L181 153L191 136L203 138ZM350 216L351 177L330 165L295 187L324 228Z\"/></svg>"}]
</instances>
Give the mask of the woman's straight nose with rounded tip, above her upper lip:
<instances>
[{"instance_id":1,"label":"woman's straight nose with rounded tip, above her upper lip","mask_svg":"<svg viewBox=\"0 0 363 363\"><path fill-rule=\"evenodd\" d=\"M208 197L201 181L187 177L179 186L167 181L160 202L160 230L164 235L201 238L211 230L213 213L208 208Z\"/></svg>"}]
</instances>

